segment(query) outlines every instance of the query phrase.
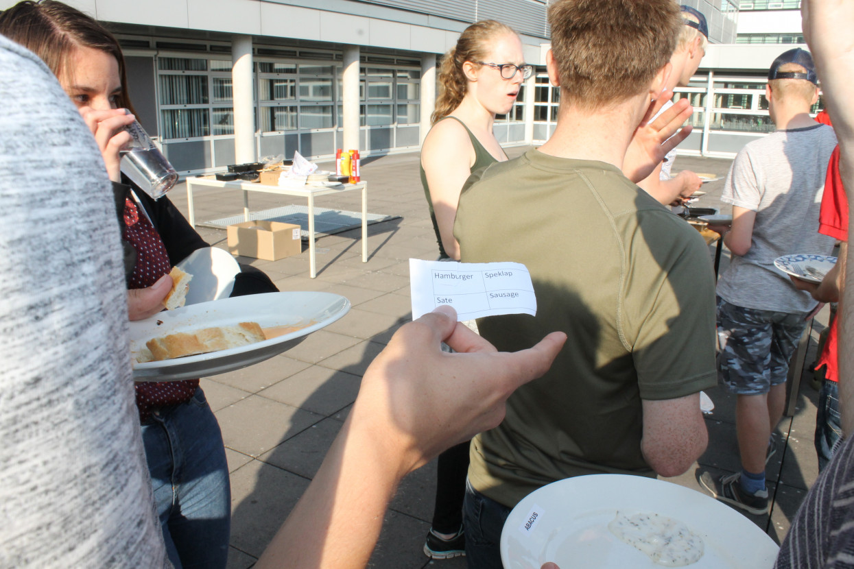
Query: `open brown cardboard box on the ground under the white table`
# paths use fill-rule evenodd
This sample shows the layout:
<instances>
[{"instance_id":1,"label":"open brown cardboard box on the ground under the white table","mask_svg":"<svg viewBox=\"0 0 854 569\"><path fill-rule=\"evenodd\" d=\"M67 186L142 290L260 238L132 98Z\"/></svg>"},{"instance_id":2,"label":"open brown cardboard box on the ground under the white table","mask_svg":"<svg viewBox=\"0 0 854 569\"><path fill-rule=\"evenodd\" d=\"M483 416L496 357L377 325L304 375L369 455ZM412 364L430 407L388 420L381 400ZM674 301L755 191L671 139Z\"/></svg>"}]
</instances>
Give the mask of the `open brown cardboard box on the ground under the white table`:
<instances>
[{"instance_id":1,"label":"open brown cardboard box on the ground under the white table","mask_svg":"<svg viewBox=\"0 0 854 569\"><path fill-rule=\"evenodd\" d=\"M232 255L278 261L302 252L300 226L276 221L246 221L226 228Z\"/></svg>"}]
</instances>

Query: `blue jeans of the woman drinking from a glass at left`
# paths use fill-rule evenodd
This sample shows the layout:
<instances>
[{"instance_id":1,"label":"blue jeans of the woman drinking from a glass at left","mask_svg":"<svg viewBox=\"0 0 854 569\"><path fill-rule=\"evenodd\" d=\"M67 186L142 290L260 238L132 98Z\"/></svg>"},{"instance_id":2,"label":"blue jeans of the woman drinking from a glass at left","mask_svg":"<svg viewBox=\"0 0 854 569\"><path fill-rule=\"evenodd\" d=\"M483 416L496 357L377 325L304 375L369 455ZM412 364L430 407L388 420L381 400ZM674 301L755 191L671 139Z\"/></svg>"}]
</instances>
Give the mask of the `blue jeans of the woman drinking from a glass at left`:
<instances>
[{"instance_id":1,"label":"blue jeans of the woman drinking from a glass at left","mask_svg":"<svg viewBox=\"0 0 854 569\"><path fill-rule=\"evenodd\" d=\"M202 388L143 425L157 514L176 569L221 569L228 559L231 486L219 423Z\"/></svg>"}]
</instances>

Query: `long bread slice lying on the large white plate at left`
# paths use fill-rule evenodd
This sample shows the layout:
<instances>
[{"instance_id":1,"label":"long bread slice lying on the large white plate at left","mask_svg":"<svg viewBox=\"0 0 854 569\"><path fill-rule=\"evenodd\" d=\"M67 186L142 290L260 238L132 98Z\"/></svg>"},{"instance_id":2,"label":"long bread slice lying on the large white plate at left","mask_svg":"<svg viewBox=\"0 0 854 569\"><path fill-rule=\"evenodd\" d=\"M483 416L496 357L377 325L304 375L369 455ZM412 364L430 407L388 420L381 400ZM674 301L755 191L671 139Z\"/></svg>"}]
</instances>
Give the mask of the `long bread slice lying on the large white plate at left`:
<instances>
[{"instance_id":1,"label":"long bread slice lying on the large white plate at left","mask_svg":"<svg viewBox=\"0 0 854 569\"><path fill-rule=\"evenodd\" d=\"M234 326L202 328L195 332L179 332L154 338L145 343L155 362L175 357L195 356L210 351L227 350L266 340L256 322L240 322Z\"/></svg>"}]
</instances>

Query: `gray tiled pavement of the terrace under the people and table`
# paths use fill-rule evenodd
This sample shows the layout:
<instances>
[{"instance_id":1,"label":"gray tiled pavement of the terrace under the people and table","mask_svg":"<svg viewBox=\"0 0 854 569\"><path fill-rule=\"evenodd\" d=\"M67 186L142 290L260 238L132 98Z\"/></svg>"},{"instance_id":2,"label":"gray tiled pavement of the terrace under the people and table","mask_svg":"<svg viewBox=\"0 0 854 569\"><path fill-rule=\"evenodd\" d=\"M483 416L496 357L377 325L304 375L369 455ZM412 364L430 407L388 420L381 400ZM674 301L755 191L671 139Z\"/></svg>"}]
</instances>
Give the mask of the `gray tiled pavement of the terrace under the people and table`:
<instances>
[{"instance_id":1,"label":"gray tiled pavement of the terrace under the people and table","mask_svg":"<svg viewBox=\"0 0 854 569\"><path fill-rule=\"evenodd\" d=\"M521 154L523 148L508 154ZM723 176L729 160L680 157L675 171L691 169ZM327 168L329 165L326 165ZM436 239L418 178L418 154L395 154L364 160L368 211L400 216L369 226L367 263L360 258L360 229L319 239L318 276L308 277L307 247L301 255L275 262L240 258L269 274L283 291L325 290L350 299L347 316L316 332L290 351L266 362L202 380L208 401L222 427L231 471L232 530L230 569L254 564L278 526L313 477L326 449L346 417L368 363L395 330L410 319L409 258L436 258ZM709 191L698 206L720 207L722 181L705 184ZM242 211L240 192L203 189L194 193L196 219L221 218ZM170 198L186 214L184 185ZM290 204L289 196L250 195L252 210ZM319 207L359 211L360 195L349 192L317 200ZM724 211L726 212L726 211ZM217 247L225 247L225 231L199 229ZM710 247L710 254L714 247ZM722 268L726 266L724 253ZM827 309L820 317L827 323ZM814 359L817 325L807 362ZM719 388L708 392L716 404L707 416L709 449L677 484L698 489L705 470L734 472L739 467L734 430L734 398ZM769 464L770 515L751 516L771 537L780 540L788 529L806 488L816 479L812 433L816 391L804 378L797 395L798 410L782 421L785 440ZM421 548L430 527L435 462L405 479L383 526L371 566L409 569L442 566L459 569L462 559L430 562Z\"/></svg>"}]
</instances>

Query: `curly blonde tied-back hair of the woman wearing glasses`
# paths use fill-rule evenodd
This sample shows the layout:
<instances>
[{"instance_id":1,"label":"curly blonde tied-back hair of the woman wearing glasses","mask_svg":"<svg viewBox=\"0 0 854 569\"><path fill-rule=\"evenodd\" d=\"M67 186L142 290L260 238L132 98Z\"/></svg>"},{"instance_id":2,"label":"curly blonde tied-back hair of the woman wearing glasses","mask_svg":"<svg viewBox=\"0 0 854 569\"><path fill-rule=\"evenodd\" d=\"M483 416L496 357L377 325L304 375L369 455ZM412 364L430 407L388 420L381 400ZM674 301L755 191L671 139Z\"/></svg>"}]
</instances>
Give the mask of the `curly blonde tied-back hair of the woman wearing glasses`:
<instances>
[{"instance_id":1,"label":"curly blonde tied-back hair of the woman wearing glasses","mask_svg":"<svg viewBox=\"0 0 854 569\"><path fill-rule=\"evenodd\" d=\"M483 61L489 48L489 42L502 35L513 34L512 27L495 20L482 20L468 26L459 34L457 44L442 57L437 78L439 94L436 96L436 110L430 116L430 124L446 117L459 107L468 90L468 82L463 73L466 61Z\"/></svg>"}]
</instances>

